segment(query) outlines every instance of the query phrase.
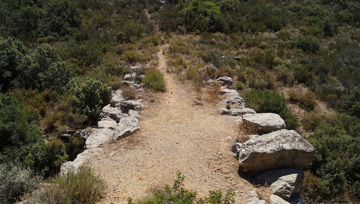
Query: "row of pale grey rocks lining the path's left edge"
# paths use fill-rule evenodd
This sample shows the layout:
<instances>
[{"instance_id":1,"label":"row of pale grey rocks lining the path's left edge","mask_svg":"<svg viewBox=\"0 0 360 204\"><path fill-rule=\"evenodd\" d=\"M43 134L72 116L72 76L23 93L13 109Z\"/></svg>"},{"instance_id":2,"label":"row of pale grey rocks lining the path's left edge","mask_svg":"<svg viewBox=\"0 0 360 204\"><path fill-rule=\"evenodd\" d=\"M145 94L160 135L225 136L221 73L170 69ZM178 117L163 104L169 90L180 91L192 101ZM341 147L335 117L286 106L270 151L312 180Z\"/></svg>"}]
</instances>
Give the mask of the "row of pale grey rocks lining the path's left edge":
<instances>
[{"instance_id":1,"label":"row of pale grey rocks lining the path's left edge","mask_svg":"<svg viewBox=\"0 0 360 204\"><path fill-rule=\"evenodd\" d=\"M98 148L100 144L116 140L139 130L138 119L140 115L138 111L143 108L141 99L138 101L125 101L122 91L117 90L113 94L110 104L102 109L97 128L93 128L90 134L87 134L86 130L78 130L73 133L79 133L84 137L86 140L85 151L78 154L73 162L63 163L60 173L67 173L69 169L76 171L87 159L95 157L102 150L102 148ZM69 136L69 133L65 134L64 139Z\"/></svg>"}]
</instances>

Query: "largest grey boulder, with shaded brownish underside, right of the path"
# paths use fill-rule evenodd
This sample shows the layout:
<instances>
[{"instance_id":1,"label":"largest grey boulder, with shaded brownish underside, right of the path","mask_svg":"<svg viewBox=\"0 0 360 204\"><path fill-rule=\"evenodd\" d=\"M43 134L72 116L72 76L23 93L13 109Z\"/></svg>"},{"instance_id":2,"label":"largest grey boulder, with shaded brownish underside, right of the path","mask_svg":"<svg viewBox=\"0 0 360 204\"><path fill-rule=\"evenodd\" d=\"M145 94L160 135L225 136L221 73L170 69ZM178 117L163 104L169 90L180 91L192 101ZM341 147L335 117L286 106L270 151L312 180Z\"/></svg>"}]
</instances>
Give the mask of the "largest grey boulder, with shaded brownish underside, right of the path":
<instances>
[{"instance_id":1,"label":"largest grey boulder, with shaded brownish underside, right of the path","mask_svg":"<svg viewBox=\"0 0 360 204\"><path fill-rule=\"evenodd\" d=\"M301 168L314 159L314 147L294 130L285 129L237 143L233 151L248 171Z\"/></svg>"}]
</instances>

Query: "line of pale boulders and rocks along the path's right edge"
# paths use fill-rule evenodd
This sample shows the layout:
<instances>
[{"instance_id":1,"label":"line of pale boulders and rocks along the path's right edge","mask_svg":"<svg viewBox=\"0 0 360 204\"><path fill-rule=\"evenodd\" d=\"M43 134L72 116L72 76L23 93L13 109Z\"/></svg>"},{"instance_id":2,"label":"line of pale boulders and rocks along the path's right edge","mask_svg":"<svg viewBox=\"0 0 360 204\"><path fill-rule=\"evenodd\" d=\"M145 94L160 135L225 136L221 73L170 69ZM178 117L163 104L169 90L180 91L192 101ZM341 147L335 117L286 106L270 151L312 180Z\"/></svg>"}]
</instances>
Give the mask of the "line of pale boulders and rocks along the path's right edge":
<instances>
[{"instance_id":1,"label":"line of pale boulders and rocks along the path's right edge","mask_svg":"<svg viewBox=\"0 0 360 204\"><path fill-rule=\"evenodd\" d=\"M229 77L218 81L230 84ZM245 101L236 90L222 89L226 98L219 103L227 108L220 108L222 115L242 122L243 127L257 131L258 135L249 135L244 143L235 143L231 152L239 161L239 166L246 171L265 171L257 177L258 184L270 185L271 204L303 204L298 190L302 186L304 172L300 169L310 163L315 156L312 145L296 131L286 130L284 120L275 113L256 113L245 108ZM230 109L228 109L230 108ZM248 204L262 204L255 191L249 192Z\"/></svg>"}]
</instances>

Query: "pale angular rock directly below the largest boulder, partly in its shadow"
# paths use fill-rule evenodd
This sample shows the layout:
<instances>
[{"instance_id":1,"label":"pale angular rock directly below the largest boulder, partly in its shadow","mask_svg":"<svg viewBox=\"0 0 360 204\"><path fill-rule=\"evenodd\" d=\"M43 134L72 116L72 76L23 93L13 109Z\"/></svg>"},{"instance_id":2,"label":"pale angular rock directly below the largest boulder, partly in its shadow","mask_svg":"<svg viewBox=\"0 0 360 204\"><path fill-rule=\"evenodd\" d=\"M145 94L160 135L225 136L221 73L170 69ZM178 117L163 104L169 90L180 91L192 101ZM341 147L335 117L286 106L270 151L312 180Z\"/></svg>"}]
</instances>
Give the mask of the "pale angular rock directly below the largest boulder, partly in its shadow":
<instances>
[{"instance_id":1,"label":"pale angular rock directly below the largest boulder, partly in its shadow","mask_svg":"<svg viewBox=\"0 0 360 204\"><path fill-rule=\"evenodd\" d=\"M289 201L292 195L302 186L304 172L295 168L267 171L258 177L258 181L266 182L274 195Z\"/></svg>"}]
</instances>

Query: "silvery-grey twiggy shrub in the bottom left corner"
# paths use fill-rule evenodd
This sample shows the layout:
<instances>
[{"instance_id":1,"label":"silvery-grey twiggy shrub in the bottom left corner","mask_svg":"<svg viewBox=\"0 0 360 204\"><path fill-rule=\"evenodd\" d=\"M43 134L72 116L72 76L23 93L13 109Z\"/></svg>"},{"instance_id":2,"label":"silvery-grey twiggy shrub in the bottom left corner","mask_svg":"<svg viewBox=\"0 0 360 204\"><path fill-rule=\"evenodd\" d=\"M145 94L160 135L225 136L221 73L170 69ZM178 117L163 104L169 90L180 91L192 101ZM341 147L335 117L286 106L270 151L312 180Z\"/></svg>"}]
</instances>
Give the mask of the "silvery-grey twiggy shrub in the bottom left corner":
<instances>
[{"instance_id":1,"label":"silvery-grey twiggy shrub in the bottom left corner","mask_svg":"<svg viewBox=\"0 0 360 204\"><path fill-rule=\"evenodd\" d=\"M30 192L40 182L32 170L17 162L0 163L0 203L18 201L23 193Z\"/></svg>"}]
</instances>

